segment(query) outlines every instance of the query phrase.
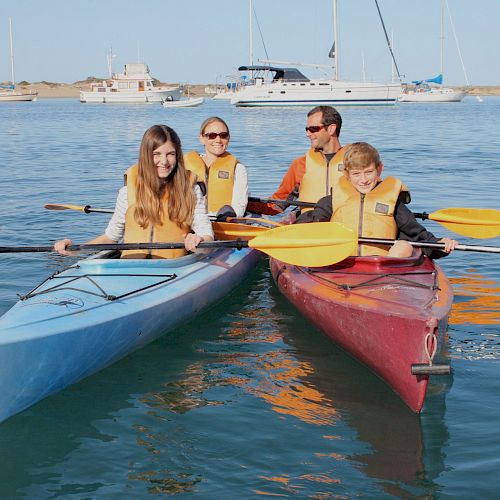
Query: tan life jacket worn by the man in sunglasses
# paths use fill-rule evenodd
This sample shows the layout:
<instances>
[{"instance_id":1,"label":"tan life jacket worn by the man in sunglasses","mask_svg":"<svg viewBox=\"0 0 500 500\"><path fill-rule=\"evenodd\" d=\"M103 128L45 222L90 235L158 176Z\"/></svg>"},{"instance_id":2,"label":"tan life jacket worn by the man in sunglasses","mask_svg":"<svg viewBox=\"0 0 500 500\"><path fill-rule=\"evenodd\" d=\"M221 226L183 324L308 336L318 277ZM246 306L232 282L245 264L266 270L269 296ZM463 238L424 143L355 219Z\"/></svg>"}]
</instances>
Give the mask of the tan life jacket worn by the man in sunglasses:
<instances>
[{"instance_id":1,"label":"tan life jacket worn by the man in sunglasses","mask_svg":"<svg viewBox=\"0 0 500 500\"><path fill-rule=\"evenodd\" d=\"M340 148L330 162L326 163L323 154L314 149L310 149L306 154L306 173L300 181L299 200L316 203L323 198L332 194L332 190L338 184L339 179L344 174L344 150ZM312 210L311 208L303 208L302 212Z\"/></svg>"}]
</instances>

